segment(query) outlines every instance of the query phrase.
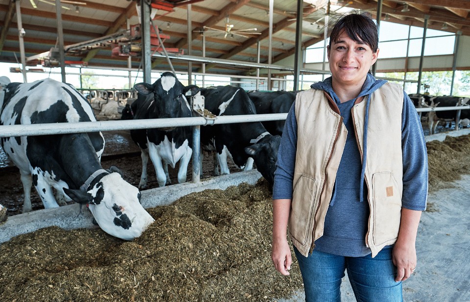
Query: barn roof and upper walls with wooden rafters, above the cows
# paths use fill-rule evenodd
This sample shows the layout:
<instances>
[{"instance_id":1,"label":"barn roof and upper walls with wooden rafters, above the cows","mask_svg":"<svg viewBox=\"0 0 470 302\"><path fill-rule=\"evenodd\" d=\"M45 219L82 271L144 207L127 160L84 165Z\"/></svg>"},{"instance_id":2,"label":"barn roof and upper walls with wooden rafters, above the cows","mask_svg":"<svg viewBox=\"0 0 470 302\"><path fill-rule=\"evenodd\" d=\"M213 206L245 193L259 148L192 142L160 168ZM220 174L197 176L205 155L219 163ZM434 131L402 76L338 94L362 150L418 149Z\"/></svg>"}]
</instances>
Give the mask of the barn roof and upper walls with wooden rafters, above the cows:
<instances>
[{"instance_id":1,"label":"barn roof and upper walls with wooden rafters, above the cows","mask_svg":"<svg viewBox=\"0 0 470 302\"><path fill-rule=\"evenodd\" d=\"M143 71L143 76L174 69L192 81L201 75L227 76L249 88L288 90L301 76L328 74L324 51L306 50L322 48L329 21L354 9L368 12L379 25L419 27L422 36L431 29L455 35L452 53L409 56L407 51L402 57L378 60L377 74L470 68L470 3L464 0L148 2L150 7L135 0L3 0L0 62L17 63L12 71L23 72L24 78L27 73L60 72L61 66L78 67L83 74L93 67L109 74ZM142 9L148 9L149 26L140 26ZM150 36L147 48L144 32ZM410 36L406 40L411 47L425 43ZM312 62L311 55L320 58Z\"/></svg>"}]
</instances>

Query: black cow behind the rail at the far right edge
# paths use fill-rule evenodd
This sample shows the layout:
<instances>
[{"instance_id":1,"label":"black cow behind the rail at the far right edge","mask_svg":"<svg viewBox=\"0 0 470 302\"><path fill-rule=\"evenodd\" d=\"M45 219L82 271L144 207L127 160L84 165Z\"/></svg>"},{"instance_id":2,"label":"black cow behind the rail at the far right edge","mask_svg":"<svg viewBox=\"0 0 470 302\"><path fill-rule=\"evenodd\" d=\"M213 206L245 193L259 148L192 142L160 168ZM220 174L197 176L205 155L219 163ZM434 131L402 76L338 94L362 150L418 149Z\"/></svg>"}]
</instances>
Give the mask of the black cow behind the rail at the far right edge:
<instances>
[{"instance_id":1,"label":"black cow behind the rail at the far right edge","mask_svg":"<svg viewBox=\"0 0 470 302\"><path fill-rule=\"evenodd\" d=\"M455 107L462 105L469 105L470 98L462 97L451 97L451 96L437 96L431 97L429 99L429 104L427 107L436 108L436 107ZM455 121L457 117L457 110L446 110L446 111L429 111L428 126L429 133L436 133L436 127L440 121L451 122ZM470 118L470 109L465 109L460 111L460 120ZM460 122L460 121L459 121ZM459 123L458 123L459 124ZM458 125L456 125L458 127Z\"/></svg>"}]
</instances>

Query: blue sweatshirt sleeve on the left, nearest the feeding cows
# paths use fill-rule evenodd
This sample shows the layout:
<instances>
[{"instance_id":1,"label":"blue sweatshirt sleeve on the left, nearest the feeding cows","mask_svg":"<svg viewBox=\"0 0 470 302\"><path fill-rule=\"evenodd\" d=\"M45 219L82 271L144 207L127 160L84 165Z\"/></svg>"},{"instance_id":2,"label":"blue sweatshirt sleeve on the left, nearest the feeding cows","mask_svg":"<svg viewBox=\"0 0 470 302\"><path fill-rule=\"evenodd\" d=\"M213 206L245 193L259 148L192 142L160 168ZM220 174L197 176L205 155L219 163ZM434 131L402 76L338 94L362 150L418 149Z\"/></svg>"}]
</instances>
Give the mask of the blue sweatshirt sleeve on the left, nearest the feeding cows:
<instances>
[{"instance_id":1,"label":"blue sweatshirt sleeve on the left, nearest the feeding cows","mask_svg":"<svg viewBox=\"0 0 470 302\"><path fill-rule=\"evenodd\" d=\"M274 172L273 200L292 199L295 155L297 151L297 119L295 101L290 107L282 130L276 171Z\"/></svg>"}]
</instances>

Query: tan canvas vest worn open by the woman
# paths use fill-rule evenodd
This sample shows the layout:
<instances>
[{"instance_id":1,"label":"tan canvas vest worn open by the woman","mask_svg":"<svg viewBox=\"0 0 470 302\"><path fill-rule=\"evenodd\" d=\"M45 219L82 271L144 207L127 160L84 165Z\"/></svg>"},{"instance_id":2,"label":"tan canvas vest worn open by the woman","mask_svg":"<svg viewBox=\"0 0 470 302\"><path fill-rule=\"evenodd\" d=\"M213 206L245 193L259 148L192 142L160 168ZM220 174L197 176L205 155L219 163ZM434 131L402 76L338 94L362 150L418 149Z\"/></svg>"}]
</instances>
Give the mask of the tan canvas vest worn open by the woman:
<instances>
[{"instance_id":1,"label":"tan canvas vest worn open by the woman","mask_svg":"<svg viewBox=\"0 0 470 302\"><path fill-rule=\"evenodd\" d=\"M370 97L365 169L370 216L365 241L375 257L384 246L397 240L400 228L403 90L397 84L385 83ZM352 107L361 158L366 98L357 99ZM295 247L307 256L314 248L314 241L323 235L348 130L336 103L323 90L298 93L295 115L297 153L289 235Z\"/></svg>"}]
</instances>

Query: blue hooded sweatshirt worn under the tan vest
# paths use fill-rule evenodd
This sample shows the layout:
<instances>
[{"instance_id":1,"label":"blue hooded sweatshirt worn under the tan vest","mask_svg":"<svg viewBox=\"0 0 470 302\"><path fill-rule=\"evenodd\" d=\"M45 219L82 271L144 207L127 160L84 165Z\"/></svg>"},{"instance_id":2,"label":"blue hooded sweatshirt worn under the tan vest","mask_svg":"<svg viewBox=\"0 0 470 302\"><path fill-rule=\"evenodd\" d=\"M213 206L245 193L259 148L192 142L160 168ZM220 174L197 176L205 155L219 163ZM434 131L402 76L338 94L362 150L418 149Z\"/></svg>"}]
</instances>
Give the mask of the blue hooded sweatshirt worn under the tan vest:
<instances>
[{"instance_id":1,"label":"blue hooded sweatshirt worn under the tan vest","mask_svg":"<svg viewBox=\"0 0 470 302\"><path fill-rule=\"evenodd\" d=\"M357 97L370 95L380 88L385 80L376 80L368 74L361 93ZM346 145L336 174L333 196L325 217L324 234L315 241L315 250L342 256L365 256L371 253L366 247L365 237L369 219L367 188L364 184L364 165L354 134L351 109L355 99L340 102L331 87L331 77L311 85L313 89L326 91L336 102L348 129ZM374 101L367 98L367 101ZM297 146L297 120L295 102L286 119L278 153L274 178L273 199L292 199L293 176ZM367 119L369 103L366 105L364 146L367 140ZM403 195L402 207L423 211L427 200L427 151L423 128L416 109L404 93L402 110L402 155ZM360 135L360 134L359 134ZM365 202L362 202L362 201Z\"/></svg>"}]
</instances>

